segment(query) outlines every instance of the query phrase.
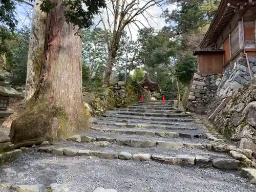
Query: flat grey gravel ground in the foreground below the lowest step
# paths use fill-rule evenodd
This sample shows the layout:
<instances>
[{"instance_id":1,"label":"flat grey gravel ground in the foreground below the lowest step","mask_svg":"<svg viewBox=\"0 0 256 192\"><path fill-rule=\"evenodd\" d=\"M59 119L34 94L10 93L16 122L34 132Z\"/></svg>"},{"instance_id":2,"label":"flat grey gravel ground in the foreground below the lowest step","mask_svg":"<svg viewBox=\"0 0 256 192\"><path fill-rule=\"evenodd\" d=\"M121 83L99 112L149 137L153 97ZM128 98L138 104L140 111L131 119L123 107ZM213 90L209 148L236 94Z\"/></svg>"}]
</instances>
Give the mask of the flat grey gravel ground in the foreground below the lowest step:
<instances>
[{"instance_id":1,"label":"flat grey gravel ground in the foreground below the lowest step","mask_svg":"<svg viewBox=\"0 0 256 192\"><path fill-rule=\"evenodd\" d=\"M58 157L39 153L5 164L0 182L13 184L67 184L71 192L91 192L96 187L118 192L251 192L256 187L238 172L159 164L103 160L90 157ZM44 190L41 190L44 191Z\"/></svg>"}]
</instances>

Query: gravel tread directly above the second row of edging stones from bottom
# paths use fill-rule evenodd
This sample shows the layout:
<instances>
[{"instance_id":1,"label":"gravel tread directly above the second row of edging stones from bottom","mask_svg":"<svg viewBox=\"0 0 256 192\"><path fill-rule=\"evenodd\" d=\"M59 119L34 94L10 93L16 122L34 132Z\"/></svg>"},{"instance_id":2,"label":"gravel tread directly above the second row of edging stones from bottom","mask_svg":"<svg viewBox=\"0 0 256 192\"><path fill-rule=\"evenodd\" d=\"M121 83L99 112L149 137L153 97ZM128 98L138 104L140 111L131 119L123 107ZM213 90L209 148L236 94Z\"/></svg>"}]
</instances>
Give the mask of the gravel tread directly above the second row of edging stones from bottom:
<instances>
[{"instance_id":1,"label":"gravel tread directly above the second row of edging stones from bottom","mask_svg":"<svg viewBox=\"0 0 256 192\"><path fill-rule=\"evenodd\" d=\"M118 133L109 133L109 132L97 132L90 131L90 133L84 133L82 135L90 137L110 137L114 139L136 139L136 140L150 140L150 141L166 141L166 142L182 142L182 143L208 143L208 139L201 138L163 138L163 137L151 137L151 136L140 136L140 135L126 135Z\"/></svg>"}]
</instances>

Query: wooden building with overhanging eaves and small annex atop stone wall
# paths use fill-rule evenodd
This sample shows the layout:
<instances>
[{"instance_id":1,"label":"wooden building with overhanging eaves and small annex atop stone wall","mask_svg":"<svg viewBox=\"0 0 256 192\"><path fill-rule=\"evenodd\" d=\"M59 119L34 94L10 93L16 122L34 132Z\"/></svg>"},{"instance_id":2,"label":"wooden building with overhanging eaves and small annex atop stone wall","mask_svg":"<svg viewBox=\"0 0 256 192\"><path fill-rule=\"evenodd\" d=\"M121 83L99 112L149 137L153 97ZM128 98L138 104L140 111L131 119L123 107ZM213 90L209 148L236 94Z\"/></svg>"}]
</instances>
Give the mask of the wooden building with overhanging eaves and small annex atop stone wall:
<instances>
[{"instance_id":1,"label":"wooden building with overhanging eaves and small annex atop stone wall","mask_svg":"<svg viewBox=\"0 0 256 192\"><path fill-rule=\"evenodd\" d=\"M249 65L248 57L256 56L256 1L222 0L194 55L199 74L223 73L241 56Z\"/></svg>"}]
</instances>

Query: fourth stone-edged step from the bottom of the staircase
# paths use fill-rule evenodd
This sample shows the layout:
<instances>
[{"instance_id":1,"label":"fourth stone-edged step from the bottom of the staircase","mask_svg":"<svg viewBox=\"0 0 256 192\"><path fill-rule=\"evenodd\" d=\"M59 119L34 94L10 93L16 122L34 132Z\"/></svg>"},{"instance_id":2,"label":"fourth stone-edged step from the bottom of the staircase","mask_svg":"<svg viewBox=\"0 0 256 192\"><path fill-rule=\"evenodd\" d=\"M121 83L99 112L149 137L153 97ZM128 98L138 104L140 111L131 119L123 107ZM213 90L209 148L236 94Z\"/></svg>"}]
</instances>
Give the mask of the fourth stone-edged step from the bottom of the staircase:
<instances>
[{"instance_id":1,"label":"fourth stone-edged step from the bottom of the staircase","mask_svg":"<svg viewBox=\"0 0 256 192\"><path fill-rule=\"evenodd\" d=\"M109 127L109 129L117 129L117 127L122 127L129 130L138 129L148 129L149 131L170 131L170 132L182 132L189 134L202 134L203 129L198 129L198 127L182 127L182 126L161 126L153 124L140 124L140 123L114 123L106 121L93 121L92 124L97 127Z\"/></svg>"}]
</instances>

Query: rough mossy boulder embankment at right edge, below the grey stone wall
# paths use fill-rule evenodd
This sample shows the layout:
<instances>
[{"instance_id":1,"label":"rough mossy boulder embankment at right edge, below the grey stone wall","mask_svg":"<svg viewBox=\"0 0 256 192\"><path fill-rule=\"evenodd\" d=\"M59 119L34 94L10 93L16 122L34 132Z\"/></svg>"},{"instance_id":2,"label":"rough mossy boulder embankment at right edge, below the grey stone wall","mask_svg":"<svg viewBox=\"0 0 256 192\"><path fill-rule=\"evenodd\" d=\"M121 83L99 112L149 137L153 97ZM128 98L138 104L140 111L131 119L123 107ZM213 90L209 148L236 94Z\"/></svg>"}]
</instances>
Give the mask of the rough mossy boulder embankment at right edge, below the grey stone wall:
<instances>
[{"instance_id":1,"label":"rough mossy boulder embankment at right edge, below the grey stone wall","mask_svg":"<svg viewBox=\"0 0 256 192\"><path fill-rule=\"evenodd\" d=\"M256 77L232 95L214 117L214 123L240 148L256 152Z\"/></svg>"}]
</instances>

